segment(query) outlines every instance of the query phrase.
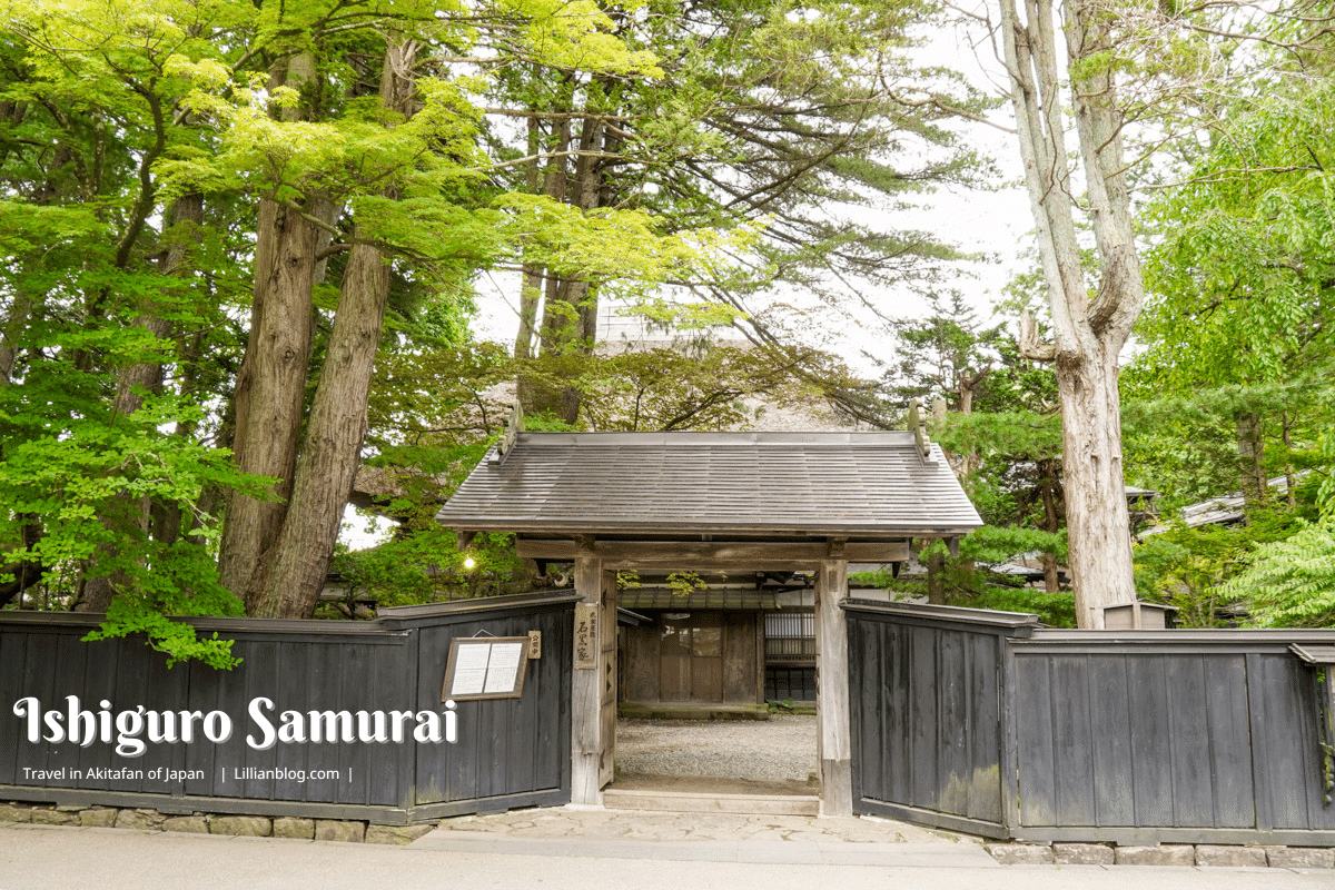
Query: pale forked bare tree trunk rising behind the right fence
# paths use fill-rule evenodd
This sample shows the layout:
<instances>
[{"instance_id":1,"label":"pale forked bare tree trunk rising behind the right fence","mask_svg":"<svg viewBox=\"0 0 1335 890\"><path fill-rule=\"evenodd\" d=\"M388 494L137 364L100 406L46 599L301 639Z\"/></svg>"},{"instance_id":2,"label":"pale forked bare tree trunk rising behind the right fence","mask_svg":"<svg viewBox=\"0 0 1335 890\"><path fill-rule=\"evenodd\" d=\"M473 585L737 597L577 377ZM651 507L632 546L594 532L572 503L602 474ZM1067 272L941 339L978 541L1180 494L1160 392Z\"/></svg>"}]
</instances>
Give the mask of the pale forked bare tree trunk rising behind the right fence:
<instances>
[{"instance_id":1,"label":"pale forked bare tree trunk rising behind the right fence","mask_svg":"<svg viewBox=\"0 0 1335 890\"><path fill-rule=\"evenodd\" d=\"M1112 65L1095 65L1071 89L1087 199L1099 252L1091 299L1076 240L1076 201L1065 149L1057 21L1051 0L1001 0L1001 44L1011 77L1020 155L1039 235L1052 311L1061 394L1063 474L1071 574L1080 627L1101 627L1105 606L1135 596L1131 530L1121 463L1117 352L1144 302L1121 159L1121 117ZM1065 4L1068 63L1113 53L1105 19L1085 3ZM1109 55L1109 57L1112 57Z\"/></svg>"}]
</instances>

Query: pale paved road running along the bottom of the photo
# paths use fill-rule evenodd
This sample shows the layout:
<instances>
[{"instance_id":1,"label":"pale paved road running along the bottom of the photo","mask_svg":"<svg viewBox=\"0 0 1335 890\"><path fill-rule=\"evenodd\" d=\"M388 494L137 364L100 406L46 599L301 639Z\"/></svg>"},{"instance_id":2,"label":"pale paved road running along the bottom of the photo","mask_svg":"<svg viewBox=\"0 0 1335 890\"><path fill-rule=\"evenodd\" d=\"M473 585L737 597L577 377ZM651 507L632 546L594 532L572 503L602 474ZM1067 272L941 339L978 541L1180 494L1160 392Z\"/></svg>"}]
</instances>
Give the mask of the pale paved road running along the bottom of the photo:
<instances>
[{"instance_id":1,"label":"pale paved road running along the bottom of the photo","mask_svg":"<svg viewBox=\"0 0 1335 890\"><path fill-rule=\"evenodd\" d=\"M433 833L411 846L232 838L170 831L0 825L0 890L1331 890L1335 873L1282 869L1156 869L947 865L801 865L678 858L680 843L643 843L635 858L533 855ZM814 845L818 847L818 845ZM909 845L913 846L913 845ZM622 851L629 849L618 847ZM749 847L752 855L758 847ZM786 855L797 853L785 845ZM567 849L569 851L569 849ZM874 854L868 850L868 854ZM700 847L693 855L705 854ZM726 857L720 853L712 858ZM665 858L659 858L665 857Z\"/></svg>"}]
</instances>

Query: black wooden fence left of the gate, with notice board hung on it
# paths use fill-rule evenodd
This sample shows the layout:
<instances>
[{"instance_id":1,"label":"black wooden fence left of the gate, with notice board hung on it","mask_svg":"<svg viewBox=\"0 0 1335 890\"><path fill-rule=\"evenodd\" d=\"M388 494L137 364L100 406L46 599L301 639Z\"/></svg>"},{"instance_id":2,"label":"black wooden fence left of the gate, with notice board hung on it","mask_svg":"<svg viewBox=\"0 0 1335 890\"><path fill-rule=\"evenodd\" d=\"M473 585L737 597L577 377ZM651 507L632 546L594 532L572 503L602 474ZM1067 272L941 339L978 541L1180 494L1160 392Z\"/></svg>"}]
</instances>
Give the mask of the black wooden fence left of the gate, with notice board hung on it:
<instances>
[{"instance_id":1,"label":"black wooden fence left of the gate, with notice board hung on it","mask_svg":"<svg viewBox=\"0 0 1335 890\"><path fill-rule=\"evenodd\" d=\"M235 639L231 671L167 669L142 640L80 642L95 616L0 612L0 799L155 807L167 813L259 813L406 823L570 799L573 594L498 596L386 608L374 622L194 619ZM454 743L347 742L247 745L259 734L250 703L283 710L443 713L450 640L542 635L521 698L462 701ZM17 703L64 711L75 695L96 715L222 711L224 742L147 745L28 741ZM410 723L407 729L415 723ZM43 727L43 739L49 734ZM115 730L112 731L115 734ZM316 778L319 777L319 778Z\"/></svg>"}]
</instances>

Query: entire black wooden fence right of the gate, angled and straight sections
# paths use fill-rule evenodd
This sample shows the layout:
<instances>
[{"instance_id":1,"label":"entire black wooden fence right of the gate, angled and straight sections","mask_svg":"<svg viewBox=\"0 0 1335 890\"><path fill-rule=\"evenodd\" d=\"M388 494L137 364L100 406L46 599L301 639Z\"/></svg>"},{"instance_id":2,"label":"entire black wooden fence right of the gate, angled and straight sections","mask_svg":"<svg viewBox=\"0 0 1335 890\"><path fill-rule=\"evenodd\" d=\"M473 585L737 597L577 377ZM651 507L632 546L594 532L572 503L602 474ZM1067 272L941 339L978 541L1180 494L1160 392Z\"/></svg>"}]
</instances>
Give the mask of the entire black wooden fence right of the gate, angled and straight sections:
<instances>
[{"instance_id":1,"label":"entire black wooden fence right of the gate, angled and straight sections","mask_svg":"<svg viewBox=\"0 0 1335 890\"><path fill-rule=\"evenodd\" d=\"M853 799L999 838L1335 843L1335 631L1056 631L849 602Z\"/></svg>"}]
</instances>

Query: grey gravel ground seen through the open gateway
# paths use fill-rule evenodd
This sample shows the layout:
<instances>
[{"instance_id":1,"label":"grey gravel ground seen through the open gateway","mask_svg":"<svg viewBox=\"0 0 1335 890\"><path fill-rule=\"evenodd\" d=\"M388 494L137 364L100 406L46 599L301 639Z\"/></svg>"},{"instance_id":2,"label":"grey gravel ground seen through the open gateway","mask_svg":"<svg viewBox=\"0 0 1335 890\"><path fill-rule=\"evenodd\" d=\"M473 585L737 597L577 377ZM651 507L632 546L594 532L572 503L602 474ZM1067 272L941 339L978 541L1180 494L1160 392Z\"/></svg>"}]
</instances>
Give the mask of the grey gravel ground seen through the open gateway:
<instances>
[{"instance_id":1,"label":"grey gravel ground seen through the open gateway","mask_svg":"<svg viewBox=\"0 0 1335 890\"><path fill-rule=\"evenodd\" d=\"M618 721L617 777L672 775L805 785L818 773L816 718Z\"/></svg>"}]
</instances>

